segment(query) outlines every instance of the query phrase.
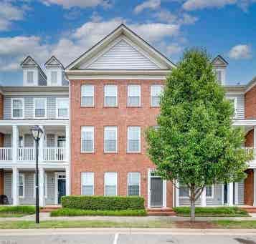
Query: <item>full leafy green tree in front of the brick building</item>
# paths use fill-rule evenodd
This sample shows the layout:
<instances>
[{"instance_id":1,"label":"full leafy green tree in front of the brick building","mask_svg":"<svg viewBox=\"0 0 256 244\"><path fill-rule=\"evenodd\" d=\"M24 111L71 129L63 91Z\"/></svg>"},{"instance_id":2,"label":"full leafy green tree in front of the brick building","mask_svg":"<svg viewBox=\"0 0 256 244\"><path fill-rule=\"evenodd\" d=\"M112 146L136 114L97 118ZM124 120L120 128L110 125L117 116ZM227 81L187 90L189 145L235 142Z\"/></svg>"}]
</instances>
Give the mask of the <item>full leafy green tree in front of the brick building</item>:
<instances>
[{"instance_id":1,"label":"full leafy green tree in front of the brick building","mask_svg":"<svg viewBox=\"0 0 256 244\"><path fill-rule=\"evenodd\" d=\"M163 179L189 189L191 221L204 187L245 178L244 132L232 127L234 107L202 49L189 49L161 96L158 128L148 128L148 155Z\"/></svg>"}]
</instances>

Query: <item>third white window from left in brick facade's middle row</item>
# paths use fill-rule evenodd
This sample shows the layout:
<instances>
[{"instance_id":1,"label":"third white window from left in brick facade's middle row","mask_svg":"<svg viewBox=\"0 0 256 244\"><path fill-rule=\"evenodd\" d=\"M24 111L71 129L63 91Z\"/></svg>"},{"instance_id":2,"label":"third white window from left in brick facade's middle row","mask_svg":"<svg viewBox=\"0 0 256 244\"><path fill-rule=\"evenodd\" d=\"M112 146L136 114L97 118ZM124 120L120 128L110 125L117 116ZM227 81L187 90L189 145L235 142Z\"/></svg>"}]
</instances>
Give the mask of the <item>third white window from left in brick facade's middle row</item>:
<instances>
[{"instance_id":1,"label":"third white window from left in brick facade's middle row","mask_svg":"<svg viewBox=\"0 0 256 244\"><path fill-rule=\"evenodd\" d=\"M128 152L141 152L141 127L128 127Z\"/></svg>"}]
</instances>

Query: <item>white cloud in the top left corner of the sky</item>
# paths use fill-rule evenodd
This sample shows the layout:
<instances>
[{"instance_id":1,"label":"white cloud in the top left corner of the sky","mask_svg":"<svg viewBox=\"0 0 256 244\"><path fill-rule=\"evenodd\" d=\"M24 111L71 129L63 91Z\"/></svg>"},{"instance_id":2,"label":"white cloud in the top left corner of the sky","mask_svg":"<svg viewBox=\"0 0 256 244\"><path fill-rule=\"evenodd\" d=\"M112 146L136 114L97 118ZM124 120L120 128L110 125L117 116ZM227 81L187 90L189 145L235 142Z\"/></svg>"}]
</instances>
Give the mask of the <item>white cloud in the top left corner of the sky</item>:
<instances>
[{"instance_id":1,"label":"white cloud in the top left corner of the sky","mask_svg":"<svg viewBox=\"0 0 256 244\"><path fill-rule=\"evenodd\" d=\"M24 19L25 9L10 4L7 1L0 2L0 31L10 28L12 21Z\"/></svg>"}]
</instances>

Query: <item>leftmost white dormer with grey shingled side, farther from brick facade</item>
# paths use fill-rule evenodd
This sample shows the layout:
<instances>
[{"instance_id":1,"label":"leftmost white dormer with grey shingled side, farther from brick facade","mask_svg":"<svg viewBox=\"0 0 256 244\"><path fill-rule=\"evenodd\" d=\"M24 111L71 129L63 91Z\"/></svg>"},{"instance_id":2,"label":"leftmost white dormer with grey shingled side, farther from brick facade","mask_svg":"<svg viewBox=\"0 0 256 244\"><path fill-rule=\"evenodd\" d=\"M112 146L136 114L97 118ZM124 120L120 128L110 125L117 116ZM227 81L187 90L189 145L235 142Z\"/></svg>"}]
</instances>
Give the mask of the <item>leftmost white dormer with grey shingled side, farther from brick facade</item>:
<instances>
[{"instance_id":1,"label":"leftmost white dormer with grey shingled side, farther from brick facade","mask_svg":"<svg viewBox=\"0 0 256 244\"><path fill-rule=\"evenodd\" d=\"M39 64L28 56L21 64L23 69L24 86L46 86L47 77L40 68Z\"/></svg>"}]
</instances>

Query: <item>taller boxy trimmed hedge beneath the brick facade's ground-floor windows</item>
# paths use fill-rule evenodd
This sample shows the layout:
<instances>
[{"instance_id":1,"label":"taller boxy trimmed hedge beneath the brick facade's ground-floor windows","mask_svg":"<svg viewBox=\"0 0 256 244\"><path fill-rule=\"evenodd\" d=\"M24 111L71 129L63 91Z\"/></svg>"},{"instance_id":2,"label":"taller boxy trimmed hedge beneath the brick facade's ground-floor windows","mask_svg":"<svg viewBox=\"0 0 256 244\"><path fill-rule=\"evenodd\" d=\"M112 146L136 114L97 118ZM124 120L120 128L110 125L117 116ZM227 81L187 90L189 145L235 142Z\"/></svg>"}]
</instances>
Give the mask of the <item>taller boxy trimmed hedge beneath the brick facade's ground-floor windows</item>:
<instances>
[{"instance_id":1,"label":"taller boxy trimmed hedge beneath the brick facade's ground-floor windows","mask_svg":"<svg viewBox=\"0 0 256 244\"><path fill-rule=\"evenodd\" d=\"M82 210L138 210L144 209L143 197L65 196L63 208Z\"/></svg>"}]
</instances>

